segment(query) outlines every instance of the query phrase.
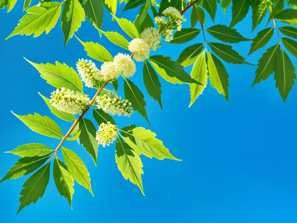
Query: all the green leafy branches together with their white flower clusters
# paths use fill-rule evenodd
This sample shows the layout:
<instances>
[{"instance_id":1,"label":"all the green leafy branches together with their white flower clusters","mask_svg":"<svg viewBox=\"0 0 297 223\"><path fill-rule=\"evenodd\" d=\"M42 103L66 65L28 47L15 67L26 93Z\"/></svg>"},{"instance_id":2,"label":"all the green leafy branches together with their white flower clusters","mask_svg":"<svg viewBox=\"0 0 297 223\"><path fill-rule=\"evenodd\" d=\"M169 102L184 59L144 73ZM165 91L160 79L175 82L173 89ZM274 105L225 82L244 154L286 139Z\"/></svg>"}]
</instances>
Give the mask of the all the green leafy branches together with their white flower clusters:
<instances>
[{"instance_id":1,"label":"all the green leafy branches together with their white flower clusters","mask_svg":"<svg viewBox=\"0 0 297 223\"><path fill-rule=\"evenodd\" d=\"M20 23L7 38L17 34L31 35L33 33L34 37L38 37L44 31L48 34L61 17L66 46L86 17L98 29L100 36L105 35L112 43L124 48L124 53L130 53L120 52L112 56L102 45L83 42L76 37L89 57L103 62L100 69L94 62L86 59L80 59L77 62L78 73L72 67L59 62L37 64L27 60L48 84L57 88L51 93L50 98L40 95L51 112L62 120L72 122L72 125L64 135L59 125L47 116L36 113L21 116L13 113L31 130L61 139L54 150L46 145L31 143L9 151L21 158L1 182L30 174L38 169L23 185L18 212L31 202L37 202L39 197L43 196L50 177L51 161L53 161L52 172L56 187L59 193L68 200L71 208L74 181L93 194L85 164L75 152L63 147L65 140L77 140L92 156L95 165L97 164L98 146L109 146L116 141L115 157L119 170L124 178L129 178L132 183L135 183L143 194L141 154L160 160L169 158L179 161L169 153L162 141L157 139L156 134L150 130L135 125L118 128L111 116L117 114L129 117L133 111L137 111L149 122L144 96L140 89L129 80L136 71L134 61L143 62L144 85L149 95L159 103L161 108L162 92L159 77L174 84L189 84L190 106L203 92L208 78L211 86L223 94L228 101L229 76L221 60L232 64L249 64L245 61L246 58L234 51L228 43L252 41L248 55L266 44L271 45L258 61L252 86L261 80L266 80L274 73L276 87L285 101L294 85L295 68L285 49L297 57L297 43L292 39L297 38L297 29L293 27L297 25L297 10L294 9L297 8L297 0L232 0L232 2L231 0L162 0L158 2L159 4L155 0L125 0L124 11L141 6L133 23L125 18L116 17L117 4L123 1L119 0L119 3L117 0L41 1L38 5L28 8L31 0L25 0L23 9L28 8L27 14L20 19ZM0 0L0 8L7 6L9 12L15 3L16 0ZM205 29L206 12L215 21L218 7L221 6L225 12L231 5L232 21L229 27L216 24ZM113 20L117 22L115 25L119 25L132 40L128 41L124 36L112 30L101 30L104 7L113 15ZM233 29L246 17L250 8L252 9L252 30L261 23L265 16L268 17L268 23L263 24L264 29L252 39L243 37L236 29ZM151 10L150 14L149 10ZM192 28L182 28L182 23L185 21L183 14L187 10L191 10L188 20ZM151 18L151 14L154 18ZM278 23L293 26L278 27ZM196 26L199 29L195 28ZM165 42L164 44L182 44L194 39L200 32L204 42L185 48L177 62L164 55L149 56L151 50L155 51L160 47L161 41ZM205 32L224 44L207 42ZM268 43L274 32L277 32L279 41ZM192 65L192 71L188 75L183 68L190 65ZM117 78L124 78L124 98L116 94ZM97 89L93 97L89 98L89 95L83 93L83 82L85 87ZM104 88L108 84L114 87L113 91ZM92 110L94 119L97 121L95 125L91 120L83 117L89 110ZM64 162L58 156L63 156Z\"/></svg>"}]
</instances>

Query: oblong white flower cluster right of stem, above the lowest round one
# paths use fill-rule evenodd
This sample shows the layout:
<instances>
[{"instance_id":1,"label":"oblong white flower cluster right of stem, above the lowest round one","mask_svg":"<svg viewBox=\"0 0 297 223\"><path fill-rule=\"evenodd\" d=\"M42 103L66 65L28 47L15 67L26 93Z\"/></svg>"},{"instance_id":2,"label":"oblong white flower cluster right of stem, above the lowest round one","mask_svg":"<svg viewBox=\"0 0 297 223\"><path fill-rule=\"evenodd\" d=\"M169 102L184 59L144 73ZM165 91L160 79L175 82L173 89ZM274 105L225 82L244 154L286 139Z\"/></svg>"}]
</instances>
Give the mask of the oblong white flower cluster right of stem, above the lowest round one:
<instances>
[{"instance_id":1,"label":"oblong white flower cluster right of stem, above the lowest round one","mask_svg":"<svg viewBox=\"0 0 297 223\"><path fill-rule=\"evenodd\" d=\"M98 108L102 109L106 113L110 113L112 115L119 115L130 117L133 113L133 107L131 107L132 103L129 100L121 99L116 93L108 92L104 95L97 96L96 102L98 103Z\"/></svg>"}]
</instances>

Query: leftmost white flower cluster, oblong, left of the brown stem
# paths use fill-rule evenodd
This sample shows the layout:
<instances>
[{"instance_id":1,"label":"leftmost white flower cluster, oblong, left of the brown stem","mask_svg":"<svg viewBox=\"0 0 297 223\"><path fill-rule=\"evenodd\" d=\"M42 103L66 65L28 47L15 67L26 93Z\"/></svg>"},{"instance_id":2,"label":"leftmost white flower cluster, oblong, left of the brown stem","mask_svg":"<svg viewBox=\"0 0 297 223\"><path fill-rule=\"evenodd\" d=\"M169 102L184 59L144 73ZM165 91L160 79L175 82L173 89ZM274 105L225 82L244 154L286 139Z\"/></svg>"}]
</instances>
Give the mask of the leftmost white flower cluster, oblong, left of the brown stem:
<instances>
[{"instance_id":1,"label":"leftmost white flower cluster, oblong, left of the brown stem","mask_svg":"<svg viewBox=\"0 0 297 223\"><path fill-rule=\"evenodd\" d=\"M52 106L70 114L83 112L90 103L90 98L87 95L69 89L66 90L64 87L61 90L56 89L56 91L53 91L50 98Z\"/></svg>"}]
</instances>

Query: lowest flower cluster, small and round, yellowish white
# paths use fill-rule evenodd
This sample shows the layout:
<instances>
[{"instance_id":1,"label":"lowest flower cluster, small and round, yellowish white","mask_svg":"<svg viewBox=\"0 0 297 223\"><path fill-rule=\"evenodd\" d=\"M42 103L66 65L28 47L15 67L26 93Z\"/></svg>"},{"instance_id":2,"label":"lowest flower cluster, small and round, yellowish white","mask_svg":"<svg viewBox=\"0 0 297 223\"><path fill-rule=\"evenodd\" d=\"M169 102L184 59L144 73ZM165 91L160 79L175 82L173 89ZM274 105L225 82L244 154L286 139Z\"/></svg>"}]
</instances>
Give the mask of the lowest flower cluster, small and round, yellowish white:
<instances>
[{"instance_id":1,"label":"lowest flower cluster, small and round, yellowish white","mask_svg":"<svg viewBox=\"0 0 297 223\"><path fill-rule=\"evenodd\" d=\"M116 125L111 124L110 122L102 123L99 125L99 129L96 132L96 140L99 145L109 146L110 143L116 140L116 134L118 131L118 127Z\"/></svg>"}]
</instances>

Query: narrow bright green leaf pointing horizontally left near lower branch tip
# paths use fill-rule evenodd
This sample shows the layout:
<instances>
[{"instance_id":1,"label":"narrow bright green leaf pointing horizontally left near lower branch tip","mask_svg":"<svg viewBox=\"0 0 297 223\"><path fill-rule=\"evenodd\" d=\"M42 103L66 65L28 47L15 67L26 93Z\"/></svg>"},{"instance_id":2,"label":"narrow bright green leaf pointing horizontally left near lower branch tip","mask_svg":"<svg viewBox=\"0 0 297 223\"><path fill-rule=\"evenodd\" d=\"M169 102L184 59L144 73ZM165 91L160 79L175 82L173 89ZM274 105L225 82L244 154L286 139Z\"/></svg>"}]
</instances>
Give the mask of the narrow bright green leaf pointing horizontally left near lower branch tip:
<instances>
[{"instance_id":1,"label":"narrow bright green leaf pointing horizontally left near lower branch tip","mask_svg":"<svg viewBox=\"0 0 297 223\"><path fill-rule=\"evenodd\" d=\"M40 143L29 143L26 145L18 146L15 150L6 153L12 153L21 157L45 156L53 153L50 147Z\"/></svg>"}]
</instances>

